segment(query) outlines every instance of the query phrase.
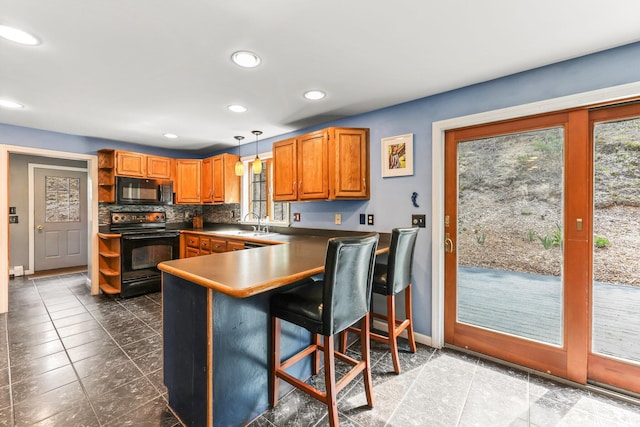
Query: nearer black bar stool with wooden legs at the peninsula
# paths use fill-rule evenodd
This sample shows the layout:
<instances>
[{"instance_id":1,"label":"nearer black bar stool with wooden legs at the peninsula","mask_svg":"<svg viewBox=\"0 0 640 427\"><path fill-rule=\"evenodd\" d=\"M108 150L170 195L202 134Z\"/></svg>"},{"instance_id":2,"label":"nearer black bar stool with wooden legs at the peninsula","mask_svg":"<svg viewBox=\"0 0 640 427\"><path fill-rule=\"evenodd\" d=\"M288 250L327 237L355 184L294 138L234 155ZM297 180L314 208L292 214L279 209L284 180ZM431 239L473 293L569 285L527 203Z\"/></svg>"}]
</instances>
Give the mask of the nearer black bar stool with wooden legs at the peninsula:
<instances>
[{"instance_id":1,"label":"nearer black bar stool with wooden legs at the peninsula","mask_svg":"<svg viewBox=\"0 0 640 427\"><path fill-rule=\"evenodd\" d=\"M325 403L329 410L329 423L338 426L336 396L360 372L363 373L367 404L373 407L371 363L369 359L369 304L373 279L373 266L378 247L378 234L363 237L340 237L329 240L325 259L324 278L309 278L291 289L271 297L271 405L278 402L279 380L284 380L309 396ZM281 319L311 332L313 343L291 356L280 360ZM333 336L349 325L361 320L362 360L357 361L334 349ZM321 342L320 335L323 336ZM326 392L288 374L286 369L307 356L313 356L312 370L320 370L318 353L324 353ZM335 357L352 365L351 370L336 383Z\"/></svg>"}]
</instances>

